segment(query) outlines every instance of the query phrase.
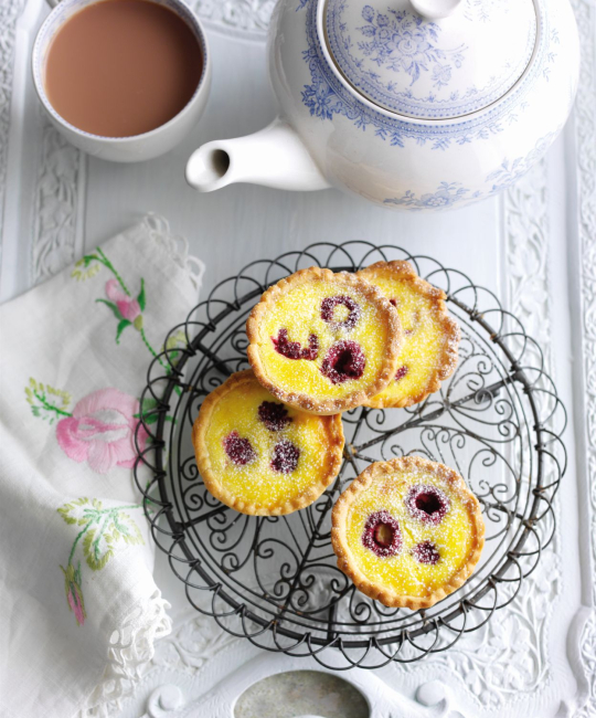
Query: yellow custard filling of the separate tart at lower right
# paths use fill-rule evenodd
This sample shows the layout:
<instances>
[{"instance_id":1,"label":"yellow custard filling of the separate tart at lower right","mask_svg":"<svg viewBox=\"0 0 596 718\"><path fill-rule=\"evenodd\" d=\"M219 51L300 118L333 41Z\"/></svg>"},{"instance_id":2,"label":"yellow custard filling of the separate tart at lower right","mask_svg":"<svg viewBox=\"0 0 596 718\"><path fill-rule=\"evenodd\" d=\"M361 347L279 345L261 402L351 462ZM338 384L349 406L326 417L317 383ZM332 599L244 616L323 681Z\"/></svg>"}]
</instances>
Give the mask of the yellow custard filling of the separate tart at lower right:
<instances>
[{"instance_id":1,"label":"yellow custard filling of the separate tart at lower right","mask_svg":"<svg viewBox=\"0 0 596 718\"><path fill-rule=\"evenodd\" d=\"M425 524L411 514L406 498L412 486L436 486L449 506L437 525ZM401 548L393 556L377 556L363 542L371 516L386 511L398 524ZM472 509L462 495L436 474L396 472L375 479L351 505L345 538L355 567L369 581L393 589L401 595L424 598L447 583L469 560L475 549ZM436 563L416 559L416 548L430 543L438 552Z\"/></svg>"}]
</instances>

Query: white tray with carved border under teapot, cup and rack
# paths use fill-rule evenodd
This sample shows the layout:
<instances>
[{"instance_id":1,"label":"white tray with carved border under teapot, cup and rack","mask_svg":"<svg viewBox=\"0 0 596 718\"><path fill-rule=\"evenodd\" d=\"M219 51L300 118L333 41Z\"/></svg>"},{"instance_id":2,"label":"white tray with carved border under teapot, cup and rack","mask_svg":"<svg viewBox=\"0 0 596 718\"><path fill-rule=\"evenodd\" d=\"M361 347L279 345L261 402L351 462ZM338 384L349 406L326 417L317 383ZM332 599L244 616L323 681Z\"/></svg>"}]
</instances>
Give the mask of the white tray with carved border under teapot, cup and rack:
<instances>
[{"instance_id":1,"label":"white tray with carved border under teapot, cup and rack","mask_svg":"<svg viewBox=\"0 0 596 718\"><path fill-rule=\"evenodd\" d=\"M275 115L264 43L272 0L194 3L206 19L214 61L210 106L182 146L137 166L87 158L46 124L33 94L29 57L47 9L44 0L0 0L0 300L155 211L189 239L191 252L206 264L203 292L254 257L313 241L394 241L493 289L543 342L570 410L570 467L553 548L519 600L496 614L485 632L418 664L350 672L349 679L370 699L387 707L372 714L375 718L392 710L407 716L596 715L596 6L593 0L573 3L583 65L576 110L564 135L504 194L426 215L372 208L334 190L285 193L235 186L198 196L185 184L183 168L196 146L254 131ZM139 691L118 715L228 718L249 682L313 667L222 634L188 608L160 557L157 580L173 604L174 632L160 643ZM588 707L582 708L586 700Z\"/></svg>"}]
</instances>

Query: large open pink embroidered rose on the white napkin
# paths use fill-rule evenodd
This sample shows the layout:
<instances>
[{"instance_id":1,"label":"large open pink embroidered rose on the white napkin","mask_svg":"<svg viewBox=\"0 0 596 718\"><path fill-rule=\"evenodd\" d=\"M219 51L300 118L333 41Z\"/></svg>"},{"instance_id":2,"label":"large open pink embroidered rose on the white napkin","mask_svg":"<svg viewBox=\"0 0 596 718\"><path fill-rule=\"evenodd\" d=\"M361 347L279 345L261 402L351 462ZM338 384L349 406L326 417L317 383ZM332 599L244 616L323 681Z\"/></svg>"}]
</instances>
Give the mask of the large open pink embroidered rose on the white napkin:
<instances>
[{"instance_id":1,"label":"large open pink embroidered rose on the white napkin","mask_svg":"<svg viewBox=\"0 0 596 718\"><path fill-rule=\"evenodd\" d=\"M70 458L78 463L86 461L98 474L106 474L114 466L132 468L137 457L138 416L137 399L117 389L99 389L82 399L72 416L61 419L56 439ZM142 451L147 442L142 425L137 441Z\"/></svg>"}]
</instances>

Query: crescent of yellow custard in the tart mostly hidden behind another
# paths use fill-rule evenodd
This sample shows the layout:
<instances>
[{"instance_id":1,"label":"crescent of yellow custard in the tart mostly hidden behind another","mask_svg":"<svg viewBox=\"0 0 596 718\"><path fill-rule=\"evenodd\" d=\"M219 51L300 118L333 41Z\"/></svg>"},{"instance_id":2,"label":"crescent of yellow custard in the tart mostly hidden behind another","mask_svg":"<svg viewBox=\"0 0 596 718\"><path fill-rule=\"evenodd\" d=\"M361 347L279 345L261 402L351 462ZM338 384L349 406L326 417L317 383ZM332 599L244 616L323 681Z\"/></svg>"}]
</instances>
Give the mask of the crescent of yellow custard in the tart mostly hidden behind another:
<instances>
[{"instance_id":1,"label":"crescent of yellow custard in the tart mostly hidden behind another","mask_svg":"<svg viewBox=\"0 0 596 718\"><path fill-rule=\"evenodd\" d=\"M395 300L403 329L395 379L377 397L396 403L424 394L447 341L441 314L433 299L416 291L411 282L382 275L366 276L366 279L385 297Z\"/></svg>"}]
</instances>

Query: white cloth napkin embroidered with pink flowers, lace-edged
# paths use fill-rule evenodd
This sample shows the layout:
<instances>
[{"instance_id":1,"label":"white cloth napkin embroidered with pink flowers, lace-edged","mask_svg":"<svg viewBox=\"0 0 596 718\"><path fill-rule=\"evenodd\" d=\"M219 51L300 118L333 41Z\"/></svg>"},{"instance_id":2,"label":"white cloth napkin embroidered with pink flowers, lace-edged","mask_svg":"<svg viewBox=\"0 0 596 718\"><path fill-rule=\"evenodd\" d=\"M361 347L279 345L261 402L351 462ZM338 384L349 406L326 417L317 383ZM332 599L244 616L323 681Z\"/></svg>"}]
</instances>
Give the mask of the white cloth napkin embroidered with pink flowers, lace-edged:
<instances>
[{"instance_id":1,"label":"white cloth napkin embroidered with pink flowers, lace-edged","mask_svg":"<svg viewBox=\"0 0 596 718\"><path fill-rule=\"evenodd\" d=\"M149 217L0 307L2 718L100 715L170 630L134 433L201 274Z\"/></svg>"}]
</instances>

